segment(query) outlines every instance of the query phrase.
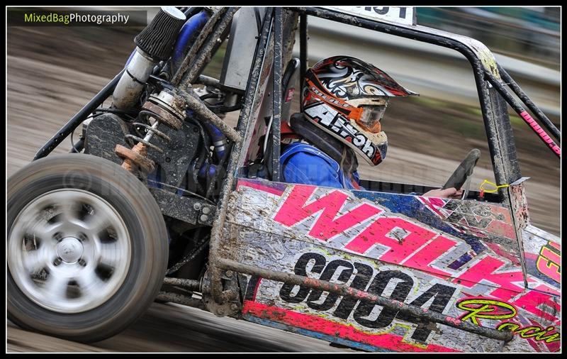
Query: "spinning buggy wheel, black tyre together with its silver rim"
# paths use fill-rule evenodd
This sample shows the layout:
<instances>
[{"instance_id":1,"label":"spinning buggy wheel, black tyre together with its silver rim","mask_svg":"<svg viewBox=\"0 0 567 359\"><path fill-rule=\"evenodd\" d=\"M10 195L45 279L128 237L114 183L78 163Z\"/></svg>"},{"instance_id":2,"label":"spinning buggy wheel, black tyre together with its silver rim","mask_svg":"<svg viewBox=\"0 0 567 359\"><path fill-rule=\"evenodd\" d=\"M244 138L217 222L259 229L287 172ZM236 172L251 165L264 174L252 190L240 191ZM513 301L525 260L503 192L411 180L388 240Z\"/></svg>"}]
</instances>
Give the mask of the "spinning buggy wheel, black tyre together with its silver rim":
<instances>
[{"instance_id":1,"label":"spinning buggy wheel, black tyre together with its silver rim","mask_svg":"<svg viewBox=\"0 0 567 359\"><path fill-rule=\"evenodd\" d=\"M92 155L54 155L8 180L8 318L92 342L123 331L159 292L167 228L152 194Z\"/></svg>"}]
</instances>

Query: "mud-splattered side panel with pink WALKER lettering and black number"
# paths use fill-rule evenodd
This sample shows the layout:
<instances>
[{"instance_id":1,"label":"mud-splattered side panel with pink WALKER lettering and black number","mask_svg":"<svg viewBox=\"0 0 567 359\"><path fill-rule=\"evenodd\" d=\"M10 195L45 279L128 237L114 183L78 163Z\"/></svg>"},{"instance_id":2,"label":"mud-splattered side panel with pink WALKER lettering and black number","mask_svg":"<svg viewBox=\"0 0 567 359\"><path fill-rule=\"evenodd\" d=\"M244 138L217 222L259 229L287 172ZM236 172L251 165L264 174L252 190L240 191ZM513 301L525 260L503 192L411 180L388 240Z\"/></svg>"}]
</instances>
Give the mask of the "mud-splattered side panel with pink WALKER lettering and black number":
<instances>
[{"instance_id":1,"label":"mud-splattered side panel with pink WALKER lettering and black number","mask_svg":"<svg viewBox=\"0 0 567 359\"><path fill-rule=\"evenodd\" d=\"M559 292L524 276L511 226L507 209L493 204L240 180L220 255L516 335L503 343L254 276L242 311L249 321L365 350L557 350Z\"/></svg>"}]
</instances>

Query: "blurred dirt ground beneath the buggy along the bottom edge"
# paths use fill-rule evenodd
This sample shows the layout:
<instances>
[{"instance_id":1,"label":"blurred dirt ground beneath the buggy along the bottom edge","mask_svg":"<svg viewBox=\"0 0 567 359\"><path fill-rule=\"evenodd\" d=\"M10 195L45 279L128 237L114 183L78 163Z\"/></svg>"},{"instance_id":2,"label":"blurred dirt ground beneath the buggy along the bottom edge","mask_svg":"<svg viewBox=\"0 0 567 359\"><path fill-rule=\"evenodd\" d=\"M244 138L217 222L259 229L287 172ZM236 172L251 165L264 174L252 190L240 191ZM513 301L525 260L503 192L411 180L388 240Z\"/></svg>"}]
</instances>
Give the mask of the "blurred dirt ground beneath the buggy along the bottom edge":
<instances>
[{"instance_id":1,"label":"blurred dirt ground beneath the buggy along the bottom edge","mask_svg":"<svg viewBox=\"0 0 567 359\"><path fill-rule=\"evenodd\" d=\"M325 341L173 303L154 303L127 330L98 343L75 343L8 324L9 352L342 352Z\"/></svg>"}]
</instances>

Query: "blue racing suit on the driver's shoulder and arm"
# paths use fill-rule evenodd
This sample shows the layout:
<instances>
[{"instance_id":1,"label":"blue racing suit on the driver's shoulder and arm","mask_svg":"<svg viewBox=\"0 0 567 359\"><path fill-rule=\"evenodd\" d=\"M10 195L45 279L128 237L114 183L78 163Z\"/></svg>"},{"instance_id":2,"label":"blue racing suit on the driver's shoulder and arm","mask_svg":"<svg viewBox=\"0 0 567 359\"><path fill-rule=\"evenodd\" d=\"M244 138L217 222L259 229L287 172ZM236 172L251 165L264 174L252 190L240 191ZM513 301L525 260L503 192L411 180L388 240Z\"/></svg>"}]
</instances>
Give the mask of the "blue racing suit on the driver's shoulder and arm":
<instances>
[{"instance_id":1,"label":"blue racing suit on the driver's shoulder and arm","mask_svg":"<svg viewBox=\"0 0 567 359\"><path fill-rule=\"evenodd\" d=\"M282 148L280 157L283 182L313 184L322 187L363 189L359 174L344 174L337 161L307 143L291 143Z\"/></svg>"}]
</instances>

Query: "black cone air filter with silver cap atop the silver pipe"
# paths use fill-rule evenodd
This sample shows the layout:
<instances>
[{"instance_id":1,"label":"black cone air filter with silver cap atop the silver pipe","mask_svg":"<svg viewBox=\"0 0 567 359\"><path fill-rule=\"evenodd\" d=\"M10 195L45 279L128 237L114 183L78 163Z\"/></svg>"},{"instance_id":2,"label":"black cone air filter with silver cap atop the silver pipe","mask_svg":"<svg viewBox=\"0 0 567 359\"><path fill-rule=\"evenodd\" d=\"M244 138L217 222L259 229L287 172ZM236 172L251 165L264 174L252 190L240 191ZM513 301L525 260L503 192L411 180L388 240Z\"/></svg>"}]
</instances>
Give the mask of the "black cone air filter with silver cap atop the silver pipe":
<instances>
[{"instance_id":1,"label":"black cone air filter with silver cap atop the silver pipe","mask_svg":"<svg viewBox=\"0 0 567 359\"><path fill-rule=\"evenodd\" d=\"M155 18L134 38L144 53L157 60L172 55L173 45L185 23L185 14L174 6L162 6Z\"/></svg>"}]
</instances>

